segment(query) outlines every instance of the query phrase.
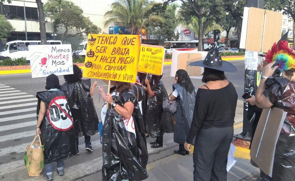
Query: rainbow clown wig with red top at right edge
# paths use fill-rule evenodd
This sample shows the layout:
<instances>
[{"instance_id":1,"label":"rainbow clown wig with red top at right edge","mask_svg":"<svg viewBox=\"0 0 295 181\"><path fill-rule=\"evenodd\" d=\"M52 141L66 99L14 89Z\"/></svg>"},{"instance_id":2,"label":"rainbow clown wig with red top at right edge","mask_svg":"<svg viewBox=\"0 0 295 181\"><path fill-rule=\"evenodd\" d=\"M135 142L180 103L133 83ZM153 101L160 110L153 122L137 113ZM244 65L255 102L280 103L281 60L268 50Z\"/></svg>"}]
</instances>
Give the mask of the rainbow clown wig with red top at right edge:
<instances>
[{"instance_id":1,"label":"rainbow clown wig with red top at right edge","mask_svg":"<svg viewBox=\"0 0 295 181\"><path fill-rule=\"evenodd\" d=\"M272 49L265 56L267 62L274 62L274 66L278 66L281 71L295 69L295 52L288 47L287 41L279 41L274 43Z\"/></svg>"}]
</instances>

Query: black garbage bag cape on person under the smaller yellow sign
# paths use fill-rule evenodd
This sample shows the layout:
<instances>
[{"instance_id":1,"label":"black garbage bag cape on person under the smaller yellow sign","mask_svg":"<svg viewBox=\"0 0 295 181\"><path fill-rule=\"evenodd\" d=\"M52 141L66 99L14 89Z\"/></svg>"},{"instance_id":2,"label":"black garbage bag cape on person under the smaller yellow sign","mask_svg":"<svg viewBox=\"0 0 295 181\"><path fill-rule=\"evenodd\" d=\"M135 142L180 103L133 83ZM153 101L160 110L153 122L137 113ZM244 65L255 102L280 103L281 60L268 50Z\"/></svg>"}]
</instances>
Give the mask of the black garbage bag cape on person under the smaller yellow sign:
<instances>
[{"instance_id":1,"label":"black garbage bag cape on person under the smaller yellow sign","mask_svg":"<svg viewBox=\"0 0 295 181\"><path fill-rule=\"evenodd\" d=\"M174 130L172 114L163 111L163 98L168 98L167 91L162 81L152 85L151 90L155 96L151 97L147 93L147 133L156 138L163 136L165 132L171 133Z\"/></svg>"}]
</instances>

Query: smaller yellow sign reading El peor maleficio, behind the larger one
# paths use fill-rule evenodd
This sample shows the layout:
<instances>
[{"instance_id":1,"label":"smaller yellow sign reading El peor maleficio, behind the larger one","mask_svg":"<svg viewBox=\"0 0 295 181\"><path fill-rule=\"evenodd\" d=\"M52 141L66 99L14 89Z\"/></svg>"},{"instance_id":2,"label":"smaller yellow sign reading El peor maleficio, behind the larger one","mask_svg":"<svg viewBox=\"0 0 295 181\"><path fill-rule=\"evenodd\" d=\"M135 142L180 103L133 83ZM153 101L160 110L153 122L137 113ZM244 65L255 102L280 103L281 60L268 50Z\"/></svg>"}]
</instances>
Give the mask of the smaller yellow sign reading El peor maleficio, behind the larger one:
<instances>
[{"instance_id":1,"label":"smaller yellow sign reading El peor maleficio, behind the larger one","mask_svg":"<svg viewBox=\"0 0 295 181\"><path fill-rule=\"evenodd\" d=\"M163 46L141 44L138 71L162 75L165 49Z\"/></svg>"}]
</instances>

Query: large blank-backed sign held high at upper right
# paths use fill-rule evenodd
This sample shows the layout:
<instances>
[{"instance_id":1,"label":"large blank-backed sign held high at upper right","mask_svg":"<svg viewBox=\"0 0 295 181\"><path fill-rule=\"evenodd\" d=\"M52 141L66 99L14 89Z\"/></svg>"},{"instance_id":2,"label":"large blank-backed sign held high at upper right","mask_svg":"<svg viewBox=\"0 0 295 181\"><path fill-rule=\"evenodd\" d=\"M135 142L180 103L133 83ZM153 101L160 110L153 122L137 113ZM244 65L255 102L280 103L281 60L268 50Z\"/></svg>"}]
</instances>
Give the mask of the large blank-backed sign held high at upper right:
<instances>
[{"instance_id":1,"label":"large blank-backed sign held high at upper right","mask_svg":"<svg viewBox=\"0 0 295 181\"><path fill-rule=\"evenodd\" d=\"M267 52L281 38L282 19L280 12L245 7L240 48Z\"/></svg>"}]
</instances>

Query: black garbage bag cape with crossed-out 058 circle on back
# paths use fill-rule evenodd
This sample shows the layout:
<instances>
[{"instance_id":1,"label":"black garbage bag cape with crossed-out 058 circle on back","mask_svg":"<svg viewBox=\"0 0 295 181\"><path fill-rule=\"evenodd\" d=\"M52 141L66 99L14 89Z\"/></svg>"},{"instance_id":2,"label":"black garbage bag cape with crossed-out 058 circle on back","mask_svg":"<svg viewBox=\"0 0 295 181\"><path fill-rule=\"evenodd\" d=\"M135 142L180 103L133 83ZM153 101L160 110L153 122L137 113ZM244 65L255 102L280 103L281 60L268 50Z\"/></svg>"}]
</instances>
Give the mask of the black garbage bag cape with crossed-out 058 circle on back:
<instances>
[{"instance_id":1,"label":"black garbage bag cape with crossed-out 058 circle on back","mask_svg":"<svg viewBox=\"0 0 295 181\"><path fill-rule=\"evenodd\" d=\"M77 153L76 136L70 107L61 90L37 92L37 117L41 100L46 105L46 114L40 126L44 145L45 164Z\"/></svg>"}]
</instances>

